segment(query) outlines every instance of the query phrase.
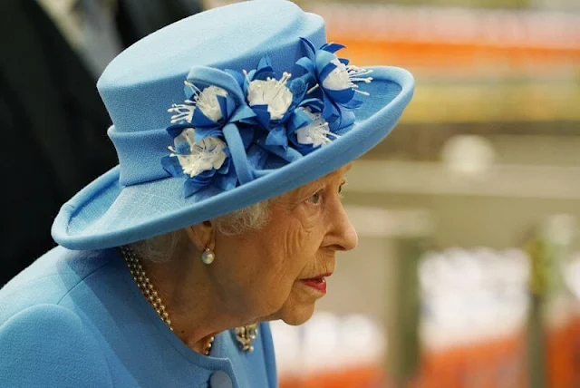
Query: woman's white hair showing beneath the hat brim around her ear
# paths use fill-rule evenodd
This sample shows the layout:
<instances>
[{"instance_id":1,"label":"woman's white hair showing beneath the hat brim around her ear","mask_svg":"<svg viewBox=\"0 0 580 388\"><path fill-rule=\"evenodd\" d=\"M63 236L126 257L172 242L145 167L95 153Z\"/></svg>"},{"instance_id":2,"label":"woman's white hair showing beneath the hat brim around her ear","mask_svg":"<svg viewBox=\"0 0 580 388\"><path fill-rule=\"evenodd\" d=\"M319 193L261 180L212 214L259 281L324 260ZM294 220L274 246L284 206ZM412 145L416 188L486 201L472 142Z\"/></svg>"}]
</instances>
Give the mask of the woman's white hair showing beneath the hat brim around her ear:
<instances>
[{"instance_id":1,"label":"woman's white hair showing beneath the hat brim around her ear","mask_svg":"<svg viewBox=\"0 0 580 388\"><path fill-rule=\"evenodd\" d=\"M226 236L236 236L250 230L264 228L269 218L269 201L258 202L213 219L214 227ZM131 249L143 260L167 262L183 249L189 239L183 229L147 238L131 244Z\"/></svg>"}]
</instances>

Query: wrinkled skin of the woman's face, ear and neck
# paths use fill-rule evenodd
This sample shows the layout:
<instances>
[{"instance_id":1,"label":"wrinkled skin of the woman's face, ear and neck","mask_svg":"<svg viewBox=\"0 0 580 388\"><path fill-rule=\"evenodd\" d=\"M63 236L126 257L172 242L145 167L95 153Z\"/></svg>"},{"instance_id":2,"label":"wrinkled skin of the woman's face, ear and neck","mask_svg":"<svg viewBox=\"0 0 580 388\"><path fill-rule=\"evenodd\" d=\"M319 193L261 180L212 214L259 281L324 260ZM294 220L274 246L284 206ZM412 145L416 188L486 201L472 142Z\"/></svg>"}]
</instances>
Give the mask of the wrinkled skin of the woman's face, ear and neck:
<instances>
[{"instance_id":1,"label":"wrinkled skin of the woman's face, ear and neck","mask_svg":"<svg viewBox=\"0 0 580 388\"><path fill-rule=\"evenodd\" d=\"M324 293L302 280L332 273L336 252L358 242L341 202L348 170L270 200L264 228L228 236L202 222L184 229L190 244L169 262L147 263L185 344L202 352L223 330L275 319L300 325L313 315ZM209 265L199 258L206 247L216 257Z\"/></svg>"}]
</instances>

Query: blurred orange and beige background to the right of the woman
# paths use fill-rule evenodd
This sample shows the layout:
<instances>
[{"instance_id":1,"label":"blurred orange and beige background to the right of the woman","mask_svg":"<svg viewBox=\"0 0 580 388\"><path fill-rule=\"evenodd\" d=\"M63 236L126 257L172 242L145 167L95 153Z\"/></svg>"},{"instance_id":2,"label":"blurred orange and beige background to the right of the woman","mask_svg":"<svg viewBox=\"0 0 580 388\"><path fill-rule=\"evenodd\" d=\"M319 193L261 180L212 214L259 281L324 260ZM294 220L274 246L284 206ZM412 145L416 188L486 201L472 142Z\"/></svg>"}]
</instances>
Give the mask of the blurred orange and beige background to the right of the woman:
<instances>
[{"instance_id":1,"label":"blurred orange and beige background to the right of the woman","mask_svg":"<svg viewBox=\"0 0 580 388\"><path fill-rule=\"evenodd\" d=\"M275 325L282 385L580 387L580 2L300 4L417 91L349 175L359 247Z\"/></svg>"}]
</instances>

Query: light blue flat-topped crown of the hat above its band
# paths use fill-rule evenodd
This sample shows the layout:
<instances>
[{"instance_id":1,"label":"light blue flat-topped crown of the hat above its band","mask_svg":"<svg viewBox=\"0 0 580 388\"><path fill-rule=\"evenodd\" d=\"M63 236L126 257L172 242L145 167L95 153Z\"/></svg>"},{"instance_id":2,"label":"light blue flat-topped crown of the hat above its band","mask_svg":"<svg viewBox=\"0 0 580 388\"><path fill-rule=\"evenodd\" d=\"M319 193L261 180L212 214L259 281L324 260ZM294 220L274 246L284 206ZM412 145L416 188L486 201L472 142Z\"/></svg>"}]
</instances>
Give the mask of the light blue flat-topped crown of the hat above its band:
<instances>
[{"instance_id":1,"label":"light blue flat-topped crown of the hat above its band","mask_svg":"<svg viewBox=\"0 0 580 388\"><path fill-rule=\"evenodd\" d=\"M300 38L326 42L324 20L283 0L254 0L190 16L150 34L115 58L98 82L115 131L167 127L172 103L194 65L251 70L268 55L292 72L304 56Z\"/></svg>"}]
</instances>

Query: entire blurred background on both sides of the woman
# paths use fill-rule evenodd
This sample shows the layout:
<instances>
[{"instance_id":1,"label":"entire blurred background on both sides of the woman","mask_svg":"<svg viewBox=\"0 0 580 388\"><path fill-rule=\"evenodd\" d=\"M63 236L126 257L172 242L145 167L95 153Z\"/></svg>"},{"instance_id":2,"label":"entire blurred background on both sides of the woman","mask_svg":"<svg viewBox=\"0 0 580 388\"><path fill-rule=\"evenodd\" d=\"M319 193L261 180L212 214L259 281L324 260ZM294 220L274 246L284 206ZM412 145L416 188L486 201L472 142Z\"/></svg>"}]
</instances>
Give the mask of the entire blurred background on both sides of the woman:
<instances>
[{"instance_id":1,"label":"entire blurred background on both sides of the woman","mask_svg":"<svg viewBox=\"0 0 580 388\"><path fill-rule=\"evenodd\" d=\"M1 161L16 182L0 285L116 164L94 90L106 63L226 3L0 5ZM359 247L311 321L273 325L281 387L580 387L578 0L296 3L324 16L341 56L404 67L417 92L349 174Z\"/></svg>"}]
</instances>

